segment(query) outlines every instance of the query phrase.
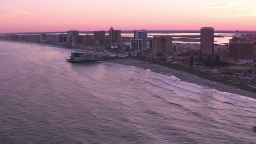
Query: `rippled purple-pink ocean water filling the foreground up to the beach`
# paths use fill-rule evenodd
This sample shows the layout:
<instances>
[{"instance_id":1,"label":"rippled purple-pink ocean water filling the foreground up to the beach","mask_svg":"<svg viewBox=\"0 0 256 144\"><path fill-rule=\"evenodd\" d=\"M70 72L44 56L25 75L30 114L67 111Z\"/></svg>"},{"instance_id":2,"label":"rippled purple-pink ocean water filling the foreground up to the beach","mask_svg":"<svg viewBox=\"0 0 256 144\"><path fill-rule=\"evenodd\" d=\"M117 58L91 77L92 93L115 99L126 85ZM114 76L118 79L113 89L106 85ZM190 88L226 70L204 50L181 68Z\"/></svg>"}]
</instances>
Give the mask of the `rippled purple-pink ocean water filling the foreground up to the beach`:
<instances>
[{"instance_id":1,"label":"rippled purple-pink ocean water filling the foreground up to the beach","mask_svg":"<svg viewBox=\"0 0 256 144\"><path fill-rule=\"evenodd\" d=\"M255 144L256 99L0 41L0 144Z\"/></svg>"}]
</instances>

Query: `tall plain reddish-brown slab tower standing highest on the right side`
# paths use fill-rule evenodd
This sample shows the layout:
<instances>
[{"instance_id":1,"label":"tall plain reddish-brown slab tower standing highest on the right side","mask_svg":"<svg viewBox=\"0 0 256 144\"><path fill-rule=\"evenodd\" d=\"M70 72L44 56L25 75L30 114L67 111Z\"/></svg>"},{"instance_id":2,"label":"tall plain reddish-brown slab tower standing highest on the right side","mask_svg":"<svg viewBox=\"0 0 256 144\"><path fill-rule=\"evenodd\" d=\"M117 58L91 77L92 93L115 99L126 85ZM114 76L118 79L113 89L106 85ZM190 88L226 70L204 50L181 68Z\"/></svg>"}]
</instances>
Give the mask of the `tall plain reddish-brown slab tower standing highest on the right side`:
<instances>
[{"instance_id":1,"label":"tall plain reddish-brown slab tower standing highest on the right side","mask_svg":"<svg viewBox=\"0 0 256 144\"><path fill-rule=\"evenodd\" d=\"M202 27L200 40L201 40L201 54L213 55L214 28Z\"/></svg>"}]
</instances>

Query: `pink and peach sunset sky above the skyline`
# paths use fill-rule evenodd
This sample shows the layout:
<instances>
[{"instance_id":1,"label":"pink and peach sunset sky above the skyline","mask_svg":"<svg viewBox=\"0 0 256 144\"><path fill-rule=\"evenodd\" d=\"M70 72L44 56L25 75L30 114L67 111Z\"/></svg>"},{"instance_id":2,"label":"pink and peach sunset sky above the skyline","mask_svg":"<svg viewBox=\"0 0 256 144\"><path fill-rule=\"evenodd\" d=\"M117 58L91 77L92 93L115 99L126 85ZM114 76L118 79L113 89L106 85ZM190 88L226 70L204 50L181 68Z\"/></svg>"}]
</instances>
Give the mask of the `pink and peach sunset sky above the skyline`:
<instances>
[{"instance_id":1,"label":"pink and peach sunset sky above the skyline","mask_svg":"<svg viewBox=\"0 0 256 144\"><path fill-rule=\"evenodd\" d=\"M256 30L256 0L0 0L0 33Z\"/></svg>"}]
</instances>

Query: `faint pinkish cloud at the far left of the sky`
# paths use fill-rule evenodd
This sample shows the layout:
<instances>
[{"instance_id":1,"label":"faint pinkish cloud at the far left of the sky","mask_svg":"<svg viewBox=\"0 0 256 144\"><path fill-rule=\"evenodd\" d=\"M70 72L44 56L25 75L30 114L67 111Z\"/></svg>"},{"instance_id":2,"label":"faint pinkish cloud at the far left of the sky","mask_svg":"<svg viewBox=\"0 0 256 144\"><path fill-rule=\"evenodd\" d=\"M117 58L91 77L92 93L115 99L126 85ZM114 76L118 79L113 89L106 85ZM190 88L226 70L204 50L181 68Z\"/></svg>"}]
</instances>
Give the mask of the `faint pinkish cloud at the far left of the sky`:
<instances>
[{"instance_id":1,"label":"faint pinkish cloud at the far left of the sky","mask_svg":"<svg viewBox=\"0 0 256 144\"><path fill-rule=\"evenodd\" d=\"M29 12L21 9L13 8L11 5L0 6L0 21L12 19L17 16L27 15Z\"/></svg>"}]
</instances>

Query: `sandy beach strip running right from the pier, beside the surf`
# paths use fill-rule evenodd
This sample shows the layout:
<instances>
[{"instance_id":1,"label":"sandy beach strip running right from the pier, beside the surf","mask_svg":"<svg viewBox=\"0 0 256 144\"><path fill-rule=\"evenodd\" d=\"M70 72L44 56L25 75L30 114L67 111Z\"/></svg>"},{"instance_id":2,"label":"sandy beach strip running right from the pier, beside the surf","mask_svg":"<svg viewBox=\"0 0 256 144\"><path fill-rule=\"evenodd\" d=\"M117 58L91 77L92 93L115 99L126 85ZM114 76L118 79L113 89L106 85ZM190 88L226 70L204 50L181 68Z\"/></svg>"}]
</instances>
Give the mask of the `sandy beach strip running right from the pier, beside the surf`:
<instances>
[{"instance_id":1,"label":"sandy beach strip running right from the pier, beside the surf","mask_svg":"<svg viewBox=\"0 0 256 144\"><path fill-rule=\"evenodd\" d=\"M136 59L118 59L118 60L108 60L107 62L116 63L116 64L123 64L127 66L134 66L139 67L142 69L150 69L153 72L162 73L162 74L169 74L174 75L175 77L184 80L188 83L194 83L197 85L207 86L209 88L215 89L217 91L234 93L241 96L248 96L251 98L256 99L256 94L250 91L240 90L235 86L231 85L224 85L222 83L217 83L211 80L206 80L204 78L198 77L194 74L189 74L187 72L179 71L176 69L171 69L168 67L164 67L158 64L147 64L145 61L139 61Z\"/></svg>"}]
</instances>

